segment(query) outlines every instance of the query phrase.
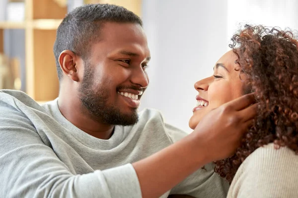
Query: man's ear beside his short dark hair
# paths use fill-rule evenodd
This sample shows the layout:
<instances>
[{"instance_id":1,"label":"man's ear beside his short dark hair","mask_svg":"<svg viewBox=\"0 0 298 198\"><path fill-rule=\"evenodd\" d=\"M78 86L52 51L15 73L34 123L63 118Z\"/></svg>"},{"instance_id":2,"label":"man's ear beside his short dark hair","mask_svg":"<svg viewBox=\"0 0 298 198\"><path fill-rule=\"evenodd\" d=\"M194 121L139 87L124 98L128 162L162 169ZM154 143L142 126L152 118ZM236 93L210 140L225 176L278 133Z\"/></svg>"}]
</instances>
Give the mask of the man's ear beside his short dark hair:
<instances>
[{"instance_id":1,"label":"man's ear beside his short dark hair","mask_svg":"<svg viewBox=\"0 0 298 198\"><path fill-rule=\"evenodd\" d=\"M76 64L78 57L71 50L64 50L60 53L59 64L62 72L75 82L79 81Z\"/></svg>"}]
</instances>

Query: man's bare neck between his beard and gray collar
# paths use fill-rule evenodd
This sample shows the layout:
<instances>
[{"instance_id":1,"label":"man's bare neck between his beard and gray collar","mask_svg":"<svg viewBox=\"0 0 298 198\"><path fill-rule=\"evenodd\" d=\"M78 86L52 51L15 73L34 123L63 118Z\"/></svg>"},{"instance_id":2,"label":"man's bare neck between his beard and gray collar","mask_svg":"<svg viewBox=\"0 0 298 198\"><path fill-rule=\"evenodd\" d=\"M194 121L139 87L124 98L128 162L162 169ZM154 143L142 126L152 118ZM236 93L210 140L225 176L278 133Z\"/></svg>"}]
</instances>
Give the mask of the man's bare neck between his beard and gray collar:
<instances>
[{"instance_id":1,"label":"man's bare neck between his beard and gray collar","mask_svg":"<svg viewBox=\"0 0 298 198\"><path fill-rule=\"evenodd\" d=\"M104 140L113 135L114 125L103 124L92 119L89 111L82 106L79 99L66 99L66 97L59 96L58 106L62 115L85 133Z\"/></svg>"}]
</instances>

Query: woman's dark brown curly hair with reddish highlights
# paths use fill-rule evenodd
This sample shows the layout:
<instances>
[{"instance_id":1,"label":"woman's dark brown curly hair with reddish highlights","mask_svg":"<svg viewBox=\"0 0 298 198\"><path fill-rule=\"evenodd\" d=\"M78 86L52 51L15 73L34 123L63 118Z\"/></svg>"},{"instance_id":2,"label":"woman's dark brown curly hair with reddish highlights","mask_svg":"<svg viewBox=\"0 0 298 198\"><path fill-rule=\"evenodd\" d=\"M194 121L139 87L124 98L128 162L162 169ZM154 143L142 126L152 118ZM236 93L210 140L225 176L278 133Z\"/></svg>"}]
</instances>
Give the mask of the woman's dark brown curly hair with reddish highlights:
<instances>
[{"instance_id":1,"label":"woman's dark brown curly hair with reddish highlights","mask_svg":"<svg viewBox=\"0 0 298 198\"><path fill-rule=\"evenodd\" d=\"M215 162L215 171L228 182L259 147L274 143L298 154L298 42L293 31L245 25L231 41L245 85L255 92L259 105L236 153Z\"/></svg>"}]
</instances>

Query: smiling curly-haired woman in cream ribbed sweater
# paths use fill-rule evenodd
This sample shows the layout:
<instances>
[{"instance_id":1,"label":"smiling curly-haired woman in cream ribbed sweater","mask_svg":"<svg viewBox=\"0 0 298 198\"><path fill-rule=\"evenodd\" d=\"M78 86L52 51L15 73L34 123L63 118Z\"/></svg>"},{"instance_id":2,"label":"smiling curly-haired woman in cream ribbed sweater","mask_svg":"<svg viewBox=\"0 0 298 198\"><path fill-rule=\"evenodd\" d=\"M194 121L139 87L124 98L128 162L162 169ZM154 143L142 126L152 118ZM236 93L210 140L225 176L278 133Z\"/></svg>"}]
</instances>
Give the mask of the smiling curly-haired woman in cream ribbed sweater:
<instances>
[{"instance_id":1,"label":"smiling curly-haired woman in cream ribbed sweater","mask_svg":"<svg viewBox=\"0 0 298 198\"><path fill-rule=\"evenodd\" d=\"M298 197L298 42L291 31L246 25L198 81L194 127L213 108L255 92L258 116L236 154L216 161L231 182L228 198Z\"/></svg>"}]
</instances>

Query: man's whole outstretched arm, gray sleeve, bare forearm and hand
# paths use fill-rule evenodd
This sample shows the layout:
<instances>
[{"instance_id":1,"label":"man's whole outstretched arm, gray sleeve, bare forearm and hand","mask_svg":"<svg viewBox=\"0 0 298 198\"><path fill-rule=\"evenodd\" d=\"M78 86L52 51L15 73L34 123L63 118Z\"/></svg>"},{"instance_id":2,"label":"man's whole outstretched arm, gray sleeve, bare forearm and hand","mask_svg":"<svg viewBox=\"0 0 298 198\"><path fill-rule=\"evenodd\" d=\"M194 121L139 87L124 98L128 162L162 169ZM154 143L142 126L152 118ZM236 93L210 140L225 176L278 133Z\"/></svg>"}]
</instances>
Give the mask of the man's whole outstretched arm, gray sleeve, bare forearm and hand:
<instances>
[{"instance_id":1,"label":"man's whole outstretched arm, gray sleeve, bare forearm and hand","mask_svg":"<svg viewBox=\"0 0 298 198\"><path fill-rule=\"evenodd\" d=\"M204 164L234 152L254 116L254 106L245 108L251 102L251 96L242 97L213 110L194 133L133 166L75 175L42 142L36 133L38 126L0 99L0 195L159 197Z\"/></svg>"}]
</instances>

